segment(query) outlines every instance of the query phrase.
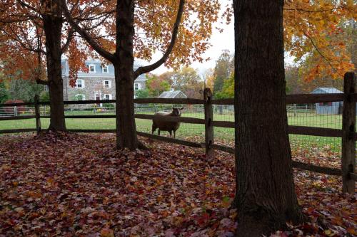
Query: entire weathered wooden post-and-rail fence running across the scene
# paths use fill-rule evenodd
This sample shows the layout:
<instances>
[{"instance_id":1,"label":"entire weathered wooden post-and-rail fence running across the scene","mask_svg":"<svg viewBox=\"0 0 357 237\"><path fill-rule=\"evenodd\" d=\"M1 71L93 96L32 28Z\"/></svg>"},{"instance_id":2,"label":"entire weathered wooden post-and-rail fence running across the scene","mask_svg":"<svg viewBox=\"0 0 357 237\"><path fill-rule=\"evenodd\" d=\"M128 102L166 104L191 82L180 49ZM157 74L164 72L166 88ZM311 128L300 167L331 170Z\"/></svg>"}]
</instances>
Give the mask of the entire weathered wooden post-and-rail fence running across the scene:
<instances>
[{"instance_id":1,"label":"entire weathered wooden post-and-rail fence running across the scene","mask_svg":"<svg viewBox=\"0 0 357 237\"><path fill-rule=\"evenodd\" d=\"M342 130L323 128L323 127L303 127L303 126L288 126L289 134L294 135L311 135L321 137L342 137L342 161L341 169L331 167L318 167L313 164L306 164L303 162L293 161L293 167L304 169L311 172L318 172L322 174L330 174L342 176L343 191L354 193L356 174L356 75L354 73L346 73L343 84L344 93L340 94L306 94L306 95L287 95L286 104L304 104L304 103L319 103L319 102L336 102L343 101L343 126ZM190 142L182 139L174 139L170 137L161 137L152 135L146 132L137 132L139 136L149 137L151 139L158 139L164 142L171 142L182 144L189 147L201 147L206 149L206 154L212 156L214 150L220 150L231 154L235 150L231 147L226 147L214 144L213 131L214 127L231 127L234 128L234 122L213 120L212 105L233 105L233 99L213 100L211 91L204 90L204 99L161 99L161 98L147 98L135 99L136 104L174 104L174 105L204 105L204 119L193 117L165 117L165 120L173 122L184 122L191 124L201 124L205 126L205 143ZM84 101L65 101L65 105L85 105L96 103L114 103L116 100L84 100ZM20 130L0 130L0 133L14 133L14 132L37 132L41 131L41 118L49 116L41 116L39 106L49 105L49 102L40 102L36 97L34 102L16 103L16 104L0 104L1 106L21 106L33 105L35 107L35 115L23 115L13 117L0 117L1 120L24 120L36 119L36 129L20 129ZM66 115L66 118L115 118L115 115ZM152 120L154 115L136 114L136 118L144 120ZM116 130L68 130L69 132L116 132Z\"/></svg>"}]
</instances>

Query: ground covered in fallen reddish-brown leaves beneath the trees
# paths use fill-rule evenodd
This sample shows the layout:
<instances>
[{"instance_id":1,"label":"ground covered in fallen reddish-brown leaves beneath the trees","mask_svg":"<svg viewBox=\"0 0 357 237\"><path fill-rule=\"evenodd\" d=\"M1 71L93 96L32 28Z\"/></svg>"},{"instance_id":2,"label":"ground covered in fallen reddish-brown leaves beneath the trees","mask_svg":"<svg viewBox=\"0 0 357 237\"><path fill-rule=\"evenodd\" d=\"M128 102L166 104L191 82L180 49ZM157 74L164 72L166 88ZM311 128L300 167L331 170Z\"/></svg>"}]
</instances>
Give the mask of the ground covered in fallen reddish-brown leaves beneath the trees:
<instances>
[{"instance_id":1,"label":"ground covered in fallen reddish-brown leaves beneath the trees","mask_svg":"<svg viewBox=\"0 0 357 237\"><path fill-rule=\"evenodd\" d=\"M233 236L233 157L143 141L130 152L113 135L0 137L0 236ZM293 156L339 165L327 149ZM308 222L272 236L356 236L340 178L296 170L295 182Z\"/></svg>"}]
</instances>

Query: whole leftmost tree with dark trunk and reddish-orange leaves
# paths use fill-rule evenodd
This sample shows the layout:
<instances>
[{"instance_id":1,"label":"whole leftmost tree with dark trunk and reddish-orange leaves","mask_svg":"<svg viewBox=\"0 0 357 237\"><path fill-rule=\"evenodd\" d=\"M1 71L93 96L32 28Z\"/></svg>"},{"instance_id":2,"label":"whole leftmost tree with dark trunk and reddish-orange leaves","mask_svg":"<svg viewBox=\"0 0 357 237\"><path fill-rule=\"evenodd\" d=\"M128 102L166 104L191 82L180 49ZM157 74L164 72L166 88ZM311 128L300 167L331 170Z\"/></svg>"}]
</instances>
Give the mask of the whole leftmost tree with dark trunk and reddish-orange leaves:
<instances>
[{"instance_id":1,"label":"whole leftmost tree with dark trunk and reddish-orange leaves","mask_svg":"<svg viewBox=\"0 0 357 237\"><path fill-rule=\"evenodd\" d=\"M31 77L26 79L49 86L49 130L66 130L61 56L69 47L73 31L63 27L61 2L8 0L0 6L1 42L4 43L1 58L6 69L14 64L14 70L20 70L23 78L26 71L31 70L32 73L28 73ZM9 54L4 55L4 52ZM44 60L46 68L42 66Z\"/></svg>"}]
</instances>

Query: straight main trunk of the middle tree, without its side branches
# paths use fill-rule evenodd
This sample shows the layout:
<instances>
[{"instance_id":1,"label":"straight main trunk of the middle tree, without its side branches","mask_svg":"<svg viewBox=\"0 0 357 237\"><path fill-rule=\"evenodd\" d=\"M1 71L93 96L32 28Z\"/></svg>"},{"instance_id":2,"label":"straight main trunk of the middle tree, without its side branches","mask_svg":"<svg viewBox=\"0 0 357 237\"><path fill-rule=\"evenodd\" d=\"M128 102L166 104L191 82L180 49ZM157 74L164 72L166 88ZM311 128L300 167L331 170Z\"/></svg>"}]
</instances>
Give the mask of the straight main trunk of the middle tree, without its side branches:
<instances>
[{"instance_id":1,"label":"straight main trunk of the middle tree, without its side branches","mask_svg":"<svg viewBox=\"0 0 357 237\"><path fill-rule=\"evenodd\" d=\"M116 147L138 148L134 117L134 1L117 1Z\"/></svg>"}]
</instances>

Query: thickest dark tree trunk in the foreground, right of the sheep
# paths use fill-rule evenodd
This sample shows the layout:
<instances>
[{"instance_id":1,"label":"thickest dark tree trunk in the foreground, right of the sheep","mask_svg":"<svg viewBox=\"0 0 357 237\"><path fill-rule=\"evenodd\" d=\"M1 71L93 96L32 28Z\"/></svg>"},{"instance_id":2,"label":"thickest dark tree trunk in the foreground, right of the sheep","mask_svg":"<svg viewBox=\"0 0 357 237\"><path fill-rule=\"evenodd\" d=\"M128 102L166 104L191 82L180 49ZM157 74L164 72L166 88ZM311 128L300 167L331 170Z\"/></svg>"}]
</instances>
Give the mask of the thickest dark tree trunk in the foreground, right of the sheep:
<instances>
[{"instance_id":1,"label":"thickest dark tree trunk in the foreground, right of the sheep","mask_svg":"<svg viewBox=\"0 0 357 237\"><path fill-rule=\"evenodd\" d=\"M302 220L293 183L283 65L283 0L233 0L237 236Z\"/></svg>"}]
</instances>

